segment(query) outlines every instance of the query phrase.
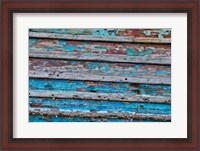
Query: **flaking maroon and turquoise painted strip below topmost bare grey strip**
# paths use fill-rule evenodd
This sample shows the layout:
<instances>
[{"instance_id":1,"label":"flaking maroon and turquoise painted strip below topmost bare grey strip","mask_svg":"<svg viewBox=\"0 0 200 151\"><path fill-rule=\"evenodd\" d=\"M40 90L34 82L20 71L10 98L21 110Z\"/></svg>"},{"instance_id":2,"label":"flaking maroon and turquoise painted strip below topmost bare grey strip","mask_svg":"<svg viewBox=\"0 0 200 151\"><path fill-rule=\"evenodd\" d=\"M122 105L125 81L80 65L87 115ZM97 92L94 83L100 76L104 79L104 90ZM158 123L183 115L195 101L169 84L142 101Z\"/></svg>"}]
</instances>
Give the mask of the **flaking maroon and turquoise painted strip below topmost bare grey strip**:
<instances>
[{"instance_id":1,"label":"flaking maroon and turquoise painted strip below topmost bare grey strip","mask_svg":"<svg viewBox=\"0 0 200 151\"><path fill-rule=\"evenodd\" d=\"M170 57L170 44L132 44L29 38L29 50Z\"/></svg>"}]
</instances>

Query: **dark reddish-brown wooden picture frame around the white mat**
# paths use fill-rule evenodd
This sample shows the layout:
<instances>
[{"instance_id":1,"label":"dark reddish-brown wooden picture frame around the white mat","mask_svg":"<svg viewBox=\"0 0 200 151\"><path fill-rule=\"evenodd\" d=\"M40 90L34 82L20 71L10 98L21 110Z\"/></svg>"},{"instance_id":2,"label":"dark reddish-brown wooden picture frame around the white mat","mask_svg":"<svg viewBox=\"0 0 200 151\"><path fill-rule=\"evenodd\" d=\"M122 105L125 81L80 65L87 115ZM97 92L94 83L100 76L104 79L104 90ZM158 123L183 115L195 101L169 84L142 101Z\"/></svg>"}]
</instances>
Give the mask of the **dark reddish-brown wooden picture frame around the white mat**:
<instances>
[{"instance_id":1,"label":"dark reddish-brown wooden picture frame around the white mat","mask_svg":"<svg viewBox=\"0 0 200 151\"><path fill-rule=\"evenodd\" d=\"M0 150L200 150L198 0L3 0L1 2L1 147ZM142 12L188 15L188 137L169 139L32 139L13 138L13 13Z\"/></svg>"}]
</instances>

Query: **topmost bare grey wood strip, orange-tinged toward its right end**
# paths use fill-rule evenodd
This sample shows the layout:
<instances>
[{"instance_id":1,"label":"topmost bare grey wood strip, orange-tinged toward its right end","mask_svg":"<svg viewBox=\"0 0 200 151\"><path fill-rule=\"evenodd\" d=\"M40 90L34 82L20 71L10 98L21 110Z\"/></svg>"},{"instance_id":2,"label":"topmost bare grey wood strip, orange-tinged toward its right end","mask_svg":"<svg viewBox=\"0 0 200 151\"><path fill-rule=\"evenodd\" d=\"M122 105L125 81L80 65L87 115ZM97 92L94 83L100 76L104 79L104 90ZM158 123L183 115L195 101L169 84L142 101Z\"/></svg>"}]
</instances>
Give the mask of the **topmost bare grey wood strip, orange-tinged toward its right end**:
<instances>
[{"instance_id":1,"label":"topmost bare grey wood strip, orange-tinged toward its right end","mask_svg":"<svg viewBox=\"0 0 200 151\"><path fill-rule=\"evenodd\" d=\"M129 43L171 43L171 38L146 38L134 36L93 36L93 35L73 35L60 33L30 32L29 37L52 38L66 40L85 41L107 41L107 42L129 42Z\"/></svg>"}]
</instances>

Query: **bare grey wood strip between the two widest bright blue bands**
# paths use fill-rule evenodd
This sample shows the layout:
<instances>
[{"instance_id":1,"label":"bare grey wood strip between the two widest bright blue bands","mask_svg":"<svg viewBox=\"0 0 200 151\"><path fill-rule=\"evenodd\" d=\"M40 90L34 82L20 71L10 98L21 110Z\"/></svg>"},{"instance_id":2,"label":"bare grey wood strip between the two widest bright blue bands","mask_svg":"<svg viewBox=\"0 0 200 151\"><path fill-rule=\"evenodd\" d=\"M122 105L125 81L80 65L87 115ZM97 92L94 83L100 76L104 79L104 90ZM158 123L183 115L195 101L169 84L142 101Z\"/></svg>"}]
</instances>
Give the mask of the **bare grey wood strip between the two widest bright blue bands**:
<instances>
[{"instance_id":1,"label":"bare grey wood strip between the two widest bright blue bands","mask_svg":"<svg viewBox=\"0 0 200 151\"><path fill-rule=\"evenodd\" d=\"M122 93L93 93L93 92L69 92L69 91L39 91L29 90L30 97L71 98L91 100L116 100L126 102L151 102L171 103L171 98L150 95L127 95Z\"/></svg>"}]
</instances>

